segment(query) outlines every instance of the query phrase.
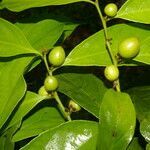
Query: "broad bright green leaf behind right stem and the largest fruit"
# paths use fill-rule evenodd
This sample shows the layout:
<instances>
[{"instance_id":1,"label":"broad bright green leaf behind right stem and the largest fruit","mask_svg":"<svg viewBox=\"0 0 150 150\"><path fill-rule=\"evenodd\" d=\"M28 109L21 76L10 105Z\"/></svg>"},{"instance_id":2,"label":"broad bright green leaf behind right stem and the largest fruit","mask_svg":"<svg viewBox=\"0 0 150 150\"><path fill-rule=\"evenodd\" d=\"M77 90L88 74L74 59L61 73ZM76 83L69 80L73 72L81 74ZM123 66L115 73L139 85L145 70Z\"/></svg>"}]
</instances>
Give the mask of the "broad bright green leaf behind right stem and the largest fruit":
<instances>
[{"instance_id":1,"label":"broad bright green leaf behind right stem and the largest fruit","mask_svg":"<svg viewBox=\"0 0 150 150\"><path fill-rule=\"evenodd\" d=\"M135 61L150 64L150 28L144 25L118 24L108 28L112 37L112 50L116 55L119 43L131 36L139 38L140 53ZM133 63L133 62L132 62ZM76 46L66 58L64 66L106 66L110 65L110 57L105 47L103 30L90 36Z\"/></svg>"}]
</instances>

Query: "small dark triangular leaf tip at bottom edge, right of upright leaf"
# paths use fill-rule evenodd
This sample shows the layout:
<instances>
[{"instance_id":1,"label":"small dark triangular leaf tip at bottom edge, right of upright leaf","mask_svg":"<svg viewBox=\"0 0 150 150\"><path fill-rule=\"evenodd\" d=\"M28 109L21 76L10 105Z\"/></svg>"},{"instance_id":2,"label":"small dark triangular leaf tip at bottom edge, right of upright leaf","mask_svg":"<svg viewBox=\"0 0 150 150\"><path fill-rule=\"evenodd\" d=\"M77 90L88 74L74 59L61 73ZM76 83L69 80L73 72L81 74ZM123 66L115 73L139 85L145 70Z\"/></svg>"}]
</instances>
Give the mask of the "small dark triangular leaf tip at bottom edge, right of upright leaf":
<instances>
[{"instance_id":1,"label":"small dark triangular leaf tip at bottom edge, right of upright leaf","mask_svg":"<svg viewBox=\"0 0 150 150\"><path fill-rule=\"evenodd\" d=\"M127 150L144 150L139 143L138 138L133 138Z\"/></svg>"}]
</instances>

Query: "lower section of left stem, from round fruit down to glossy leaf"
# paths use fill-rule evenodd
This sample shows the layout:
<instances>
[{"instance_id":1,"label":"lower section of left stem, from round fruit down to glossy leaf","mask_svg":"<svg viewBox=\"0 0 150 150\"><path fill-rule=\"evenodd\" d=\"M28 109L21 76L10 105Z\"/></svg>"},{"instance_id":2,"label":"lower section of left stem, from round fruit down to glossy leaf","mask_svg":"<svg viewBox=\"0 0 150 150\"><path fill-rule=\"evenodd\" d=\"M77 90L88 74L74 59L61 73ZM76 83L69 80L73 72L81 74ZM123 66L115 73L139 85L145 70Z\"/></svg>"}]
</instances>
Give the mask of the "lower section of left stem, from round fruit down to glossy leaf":
<instances>
[{"instance_id":1,"label":"lower section of left stem, from round fruit down to glossy leaf","mask_svg":"<svg viewBox=\"0 0 150 150\"><path fill-rule=\"evenodd\" d=\"M71 117L70 117L70 115L65 111L65 108L64 108L64 106L63 106L63 104L62 104L62 102L61 102L61 100L60 100L60 98L59 98L57 92L54 92L54 98L55 98L55 100L57 101L57 103L58 103L58 108L59 108L59 110L61 111L61 113L63 114L63 116L64 116L68 121L71 121Z\"/></svg>"}]
</instances>

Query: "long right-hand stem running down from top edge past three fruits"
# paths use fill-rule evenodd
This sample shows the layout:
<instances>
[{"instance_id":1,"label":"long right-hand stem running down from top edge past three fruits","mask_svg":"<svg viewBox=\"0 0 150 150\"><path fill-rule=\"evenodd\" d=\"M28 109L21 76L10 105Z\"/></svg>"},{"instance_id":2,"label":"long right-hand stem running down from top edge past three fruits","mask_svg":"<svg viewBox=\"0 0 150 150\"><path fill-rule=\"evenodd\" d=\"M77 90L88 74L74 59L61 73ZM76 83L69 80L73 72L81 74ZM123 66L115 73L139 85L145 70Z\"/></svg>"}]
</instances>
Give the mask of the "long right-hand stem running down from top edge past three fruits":
<instances>
[{"instance_id":1,"label":"long right-hand stem running down from top edge past three fruits","mask_svg":"<svg viewBox=\"0 0 150 150\"><path fill-rule=\"evenodd\" d=\"M106 24L106 20L105 18L103 17L102 15L102 12L100 10L100 7L99 7L99 2L98 0L95 1L94 3L97 11L98 11L98 14L99 14L99 17L102 21L102 25L103 25L103 28L104 28L104 36L105 36L105 41L106 41L106 48L108 50L108 53L109 53L109 56L110 56L110 59L111 59L111 62L113 65L115 65L116 67L118 67L118 63L117 63L117 60L112 52L112 49L111 49L111 43L110 43L110 37L108 36L108 31L107 31L107 24ZM119 82L119 79L116 82L116 90L118 92L120 92L120 82Z\"/></svg>"}]
</instances>

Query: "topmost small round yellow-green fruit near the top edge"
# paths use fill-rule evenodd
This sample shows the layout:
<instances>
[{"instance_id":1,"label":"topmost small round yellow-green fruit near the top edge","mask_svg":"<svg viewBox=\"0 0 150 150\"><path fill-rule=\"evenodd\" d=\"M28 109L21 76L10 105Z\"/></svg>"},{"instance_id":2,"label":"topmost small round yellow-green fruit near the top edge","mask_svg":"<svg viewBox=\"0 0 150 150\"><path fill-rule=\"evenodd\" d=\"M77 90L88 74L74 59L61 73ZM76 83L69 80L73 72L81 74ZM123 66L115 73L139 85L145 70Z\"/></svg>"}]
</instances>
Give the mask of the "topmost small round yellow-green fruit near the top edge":
<instances>
[{"instance_id":1,"label":"topmost small round yellow-green fruit near the top edge","mask_svg":"<svg viewBox=\"0 0 150 150\"><path fill-rule=\"evenodd\" d=\"M105 14L109 17L116 16L117 11L118 11L117 5L114 3L107 4L104 8Z\"/></svg>"}]
</instances>

